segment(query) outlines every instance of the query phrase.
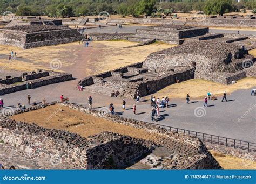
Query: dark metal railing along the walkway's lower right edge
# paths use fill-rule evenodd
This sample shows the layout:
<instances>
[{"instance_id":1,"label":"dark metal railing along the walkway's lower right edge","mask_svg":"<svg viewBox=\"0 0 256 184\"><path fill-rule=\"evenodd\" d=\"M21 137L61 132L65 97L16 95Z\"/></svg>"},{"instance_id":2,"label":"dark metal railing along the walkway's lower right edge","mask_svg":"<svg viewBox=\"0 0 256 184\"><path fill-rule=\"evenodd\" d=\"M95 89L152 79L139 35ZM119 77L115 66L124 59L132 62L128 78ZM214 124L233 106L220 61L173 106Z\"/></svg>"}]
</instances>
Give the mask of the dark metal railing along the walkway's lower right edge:
<instances>
[{"instance_id":1,"label":"dark metal railing along the walkway's lower right edge","mask_svg":"<svg viewBox=\"0 0 256 184\"><path fill-rule=\"evenodd\" d=\"M166 125L160 125L160 124L156 124L156 123L149 123L149 124L157 125L157 126L163 127L164 129L167 129L170 131L174 130L177 132L187 133L188 135L196 136L200 140L205 141L205 142L215 143L218 145L225 145L227 147L239 148L239 150L247 150L248 152L256 152L256 144L248 142L248 141L232 139L232 138L227 138L227 137L222 137L222 136L215 136L215 135L211 135L208 133L180 129L180 128L175 128L175 127L166 126Z\"/></svg>"}]
</instances>

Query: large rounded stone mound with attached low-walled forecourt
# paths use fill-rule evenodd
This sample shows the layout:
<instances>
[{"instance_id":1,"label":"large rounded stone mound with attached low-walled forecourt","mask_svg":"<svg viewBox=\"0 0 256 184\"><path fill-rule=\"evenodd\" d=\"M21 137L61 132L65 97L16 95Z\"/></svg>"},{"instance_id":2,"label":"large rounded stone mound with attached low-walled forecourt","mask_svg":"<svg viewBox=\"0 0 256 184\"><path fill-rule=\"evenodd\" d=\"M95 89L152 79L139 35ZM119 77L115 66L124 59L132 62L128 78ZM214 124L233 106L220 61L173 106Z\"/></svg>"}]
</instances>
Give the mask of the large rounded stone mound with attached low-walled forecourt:
<instances>
[{"instance_id":1,"label":"large rounded stone mound with attached low-walled forecourt","mask_svg":"<svg viewBox=\"0 0 256 184\"><path fill-rule=\"evenodd\" d=\"M146 96L176 83L176 79L231 84L255 77L254 62L255 58L239 45L196 41L151 53L144 62L86 77L78 86L100 94L118 90L121 97L136 98L137 90Z\"/></svg>"}]
</instances>

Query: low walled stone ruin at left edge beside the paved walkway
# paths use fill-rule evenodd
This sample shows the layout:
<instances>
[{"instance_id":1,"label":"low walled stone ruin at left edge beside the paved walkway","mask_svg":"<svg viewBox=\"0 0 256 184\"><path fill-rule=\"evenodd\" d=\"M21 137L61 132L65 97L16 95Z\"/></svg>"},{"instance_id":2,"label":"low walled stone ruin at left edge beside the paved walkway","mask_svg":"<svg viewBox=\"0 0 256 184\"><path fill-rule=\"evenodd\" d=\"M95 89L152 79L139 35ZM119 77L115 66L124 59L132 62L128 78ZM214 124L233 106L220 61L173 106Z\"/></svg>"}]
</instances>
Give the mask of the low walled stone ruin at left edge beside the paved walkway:
<instances>
[{"instance_id":1,"label":"low walled stone ruin at left edge beside the paved walkway","mask_svg":"<svg viewBox=\"0 0 256 184\"><path fill-rule=\"evenodd\" d=\"M21 76L5 76L5 79L0 79L0 95L14 93L16 91L25 90L28 88L37 88L53 83L72 80L72 74L55 72L53 70L42 70L25 72Z\"/></svg>"}]
</instances>

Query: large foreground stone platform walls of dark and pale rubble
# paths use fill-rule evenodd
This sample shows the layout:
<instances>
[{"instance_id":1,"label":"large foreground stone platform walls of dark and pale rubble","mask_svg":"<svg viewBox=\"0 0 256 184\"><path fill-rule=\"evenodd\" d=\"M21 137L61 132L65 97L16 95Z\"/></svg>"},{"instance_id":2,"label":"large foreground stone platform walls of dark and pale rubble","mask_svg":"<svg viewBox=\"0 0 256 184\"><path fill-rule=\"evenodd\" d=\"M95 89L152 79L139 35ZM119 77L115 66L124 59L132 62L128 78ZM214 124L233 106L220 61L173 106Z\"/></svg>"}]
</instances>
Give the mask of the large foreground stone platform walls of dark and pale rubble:
<instances>
[{"instance_id":1,"label":"large foreground stone platform walls of dark and pale rubble","mask_svg":"<svg viewBox=\"0 0 256 184\"><path fill-rule=\"evenodd\" d=\"M80 105L66 105L71 109L106 118L115 123L144 129L159 138L156 141L144 140L113 132L102 132L84 138L76 133L45 129L34 123L17 122L2 116L0 139L5 144L28 152L32 157L48 158L50 161L52 157L57 157L59 162L62 162L63 169L65 166L69 169L133 169L134 165L138 164L144 169L221 169L205 145L195 136L161 129L156 125L133 119L104 114L104 112L101 114L97 110ZM13 114L40 108L43 107L37 105L26 109L25 112L15 111ZM164 152L168 156L158 158L152 155L156 152ZM7 162L1 158L0 161L2 164ZM49 166L48 169L51 167Z\"/></svg>"}]
</instances>

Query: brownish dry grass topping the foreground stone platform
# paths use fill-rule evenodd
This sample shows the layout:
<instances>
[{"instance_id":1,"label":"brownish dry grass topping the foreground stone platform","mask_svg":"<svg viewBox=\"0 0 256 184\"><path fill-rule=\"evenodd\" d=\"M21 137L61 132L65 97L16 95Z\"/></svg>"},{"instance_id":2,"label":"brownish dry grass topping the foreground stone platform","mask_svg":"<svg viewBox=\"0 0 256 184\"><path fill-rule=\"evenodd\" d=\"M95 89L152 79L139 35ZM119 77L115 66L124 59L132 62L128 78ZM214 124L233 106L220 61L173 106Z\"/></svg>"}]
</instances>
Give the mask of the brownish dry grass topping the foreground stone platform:
<instances>
[{"instance_id":1,"label":"brownish dry grass topping the foreground stone platform","mask_svg":"<svg viewBox=\"0 0 256 184\"><path fill-rule=\"evenodd\" d=\"M120 133L136 138L152 140L156 135L142 129L122 125L107 121L104 118L84 114L83 112L69 109L61 105L52 105L44 109L26 112L11 117L16 121L28 123L35 122L39 126L48 129L67 130L77 133L83 137L92 136L103 131ZM48 119L48 121L46 121ZM75 126L66 127L74 123L82 123Z\"/></svg>"}]
</instances>

